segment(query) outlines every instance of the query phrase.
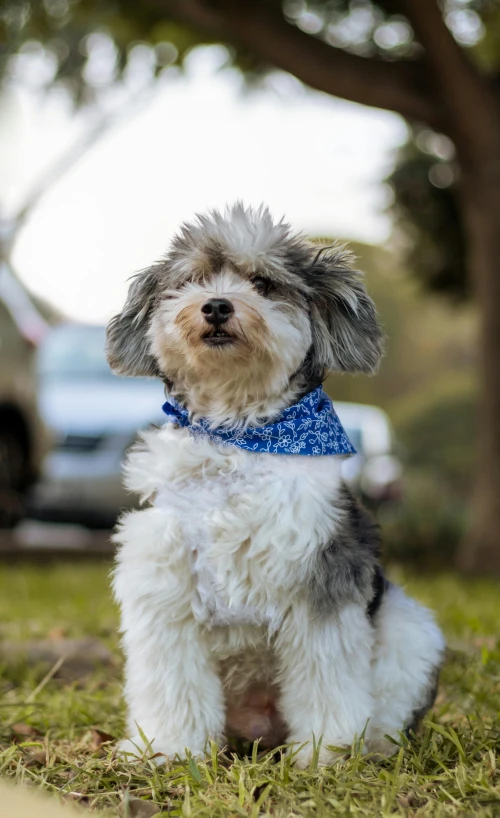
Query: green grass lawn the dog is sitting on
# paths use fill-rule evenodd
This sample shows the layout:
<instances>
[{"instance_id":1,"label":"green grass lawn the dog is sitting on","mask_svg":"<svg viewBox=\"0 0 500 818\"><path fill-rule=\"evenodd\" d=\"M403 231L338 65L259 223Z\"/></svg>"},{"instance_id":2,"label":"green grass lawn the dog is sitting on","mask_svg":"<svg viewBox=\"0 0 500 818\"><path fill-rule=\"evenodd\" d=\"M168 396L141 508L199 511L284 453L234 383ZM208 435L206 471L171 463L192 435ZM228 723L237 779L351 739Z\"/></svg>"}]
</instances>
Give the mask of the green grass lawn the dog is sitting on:
<instances>
[{"instance_id":1,"label":"green grass lawn the dog is sitting on","mask_svg":"<svg viewBox=\"0 0 500 818\"><path fill-rule=\"evenodd\" d=\"M203 762L156 769L116 760L113 743L95 732L123 731L107 572L101 564L2 567L0 641L91 635L117 664L71 683L47 679L46 668L1 668L1 775L123 818L141 814L144 802L147 815L156 804L162 814L207 818L500 816L498 583L397 576L437 611L450 650L434 712L414 744L402 743L391 759L375 763L354 747L330 768L299 771L284 755L262 757L254 748L238 759L212 748ZM19 723L24 727L13 730Z\"/></svg>"}]
</instances>

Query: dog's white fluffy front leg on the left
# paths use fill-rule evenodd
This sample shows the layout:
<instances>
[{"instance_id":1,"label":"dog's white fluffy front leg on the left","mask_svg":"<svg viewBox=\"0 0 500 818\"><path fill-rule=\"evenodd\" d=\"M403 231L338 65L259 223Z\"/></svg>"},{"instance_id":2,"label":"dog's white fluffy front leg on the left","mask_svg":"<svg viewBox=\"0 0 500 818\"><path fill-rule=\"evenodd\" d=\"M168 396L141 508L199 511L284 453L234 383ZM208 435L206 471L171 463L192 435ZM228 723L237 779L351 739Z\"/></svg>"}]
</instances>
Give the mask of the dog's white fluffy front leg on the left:
<instances>
[{"instance_id":1,"label":"dog's white fluffy front leg on the left","mask_svg":"<svg viewBox=\"0 0 500 818\"><path fill-rule=\"evenodd\" d=\"M220 738L225 719L209 632L191 610L191 571L178 536L155 509L130 515L116 536L122 548L114 591L121 607L131 737L121 751L159 753L160 764L165 757L185 756L186 749L203 754L209 739Z\"/></svg>"}]
</instances>

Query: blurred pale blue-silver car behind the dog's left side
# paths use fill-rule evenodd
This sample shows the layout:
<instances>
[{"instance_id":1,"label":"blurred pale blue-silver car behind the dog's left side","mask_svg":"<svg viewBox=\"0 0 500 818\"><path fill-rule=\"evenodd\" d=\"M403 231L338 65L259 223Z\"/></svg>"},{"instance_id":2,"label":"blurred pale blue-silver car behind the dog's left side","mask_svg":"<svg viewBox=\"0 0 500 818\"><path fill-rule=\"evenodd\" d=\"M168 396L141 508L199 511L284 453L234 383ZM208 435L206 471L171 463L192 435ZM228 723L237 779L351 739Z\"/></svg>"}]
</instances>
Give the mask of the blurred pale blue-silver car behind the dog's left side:
<instances>
[{"instance_id":1,"label":"blurred pale blue-silver car behind the dog's left side","mask_svg":"<svg viewBox=\"0 0 500 818\"><path fill-rule=\"evenodd\" d=\"M38 353L40 410L53 437L29 513L92 528L136 503L122 485L125 453L141 429L163 423L163 385L113 375L105 329L61 324Z\"/></svg>"}]
</instances>

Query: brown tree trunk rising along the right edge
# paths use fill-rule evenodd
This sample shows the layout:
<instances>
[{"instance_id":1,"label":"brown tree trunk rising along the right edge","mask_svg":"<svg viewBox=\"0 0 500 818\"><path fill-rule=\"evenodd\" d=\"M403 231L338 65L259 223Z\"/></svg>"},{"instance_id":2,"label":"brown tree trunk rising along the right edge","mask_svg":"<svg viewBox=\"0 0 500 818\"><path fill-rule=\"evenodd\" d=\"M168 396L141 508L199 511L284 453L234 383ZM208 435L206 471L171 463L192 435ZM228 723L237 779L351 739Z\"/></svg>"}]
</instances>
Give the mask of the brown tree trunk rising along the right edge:
<instances>
[{"instance_id":1,"label":"brown tree trunk rising along the right edge","mask_svg":"<svg viewBox=\"0 0 500 818\"><path fill-rule=\"evenodd\" d=\"M452 37L437 0L400 2L424 47L457 147L467 267L480 314L476 479L458 564L500 577L500 100Z\"/></svg>"}]
</instances>

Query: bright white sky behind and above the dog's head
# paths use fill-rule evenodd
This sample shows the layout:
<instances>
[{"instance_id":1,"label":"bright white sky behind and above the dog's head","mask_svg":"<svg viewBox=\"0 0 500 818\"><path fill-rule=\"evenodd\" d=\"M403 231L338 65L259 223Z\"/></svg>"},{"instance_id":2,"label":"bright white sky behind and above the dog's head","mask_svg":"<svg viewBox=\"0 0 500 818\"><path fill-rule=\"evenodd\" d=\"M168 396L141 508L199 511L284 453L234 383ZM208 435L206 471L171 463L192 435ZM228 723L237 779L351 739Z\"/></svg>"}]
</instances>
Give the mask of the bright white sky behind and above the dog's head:
<instances>
[{"instance_id":1,"label":"bright white sky behind and above the dog's head","mask_svg":"<svg viewBox=\"0 0 500 818\"><path fill-rule=\"evenodd\" d=\"M4 209L22 201L81 119L57 100L4 100ZM46 193L16 243L16 270L69 317L101 322L183 220L236 199L265 202L309 235L382 243L391 229L382 179L405 135L398 116L284 74L248 92L198 49L183 75L165 79Z\"/></svg>"}]
</instances>

